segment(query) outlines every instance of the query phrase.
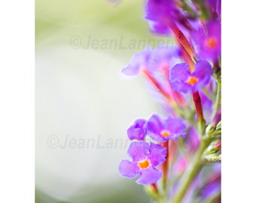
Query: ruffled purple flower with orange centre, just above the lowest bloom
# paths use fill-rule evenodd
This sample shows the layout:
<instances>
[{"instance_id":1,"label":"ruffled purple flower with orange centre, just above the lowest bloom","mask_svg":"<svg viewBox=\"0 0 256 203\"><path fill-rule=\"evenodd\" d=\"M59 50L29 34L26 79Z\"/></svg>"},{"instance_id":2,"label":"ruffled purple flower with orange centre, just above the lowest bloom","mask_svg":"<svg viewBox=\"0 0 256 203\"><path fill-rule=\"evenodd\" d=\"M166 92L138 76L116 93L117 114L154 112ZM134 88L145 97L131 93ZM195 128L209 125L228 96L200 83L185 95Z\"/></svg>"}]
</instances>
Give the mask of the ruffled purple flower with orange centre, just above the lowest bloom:
<instances>
[{"instance_id":1,"label":"ruffled purple flower with orange centre, just above the lowest bloom","mask_svg":"<svg viewBox=\"0 0 256 203\"><path fill-rule=\"evenodd\" d=\"M152 115L147 123L147 134L155 141L165 142L167 140L178 141L178 137L185 137L186 126L181 119L168 117L163 120L157 114Z\"/></svg>"}]
</instances>

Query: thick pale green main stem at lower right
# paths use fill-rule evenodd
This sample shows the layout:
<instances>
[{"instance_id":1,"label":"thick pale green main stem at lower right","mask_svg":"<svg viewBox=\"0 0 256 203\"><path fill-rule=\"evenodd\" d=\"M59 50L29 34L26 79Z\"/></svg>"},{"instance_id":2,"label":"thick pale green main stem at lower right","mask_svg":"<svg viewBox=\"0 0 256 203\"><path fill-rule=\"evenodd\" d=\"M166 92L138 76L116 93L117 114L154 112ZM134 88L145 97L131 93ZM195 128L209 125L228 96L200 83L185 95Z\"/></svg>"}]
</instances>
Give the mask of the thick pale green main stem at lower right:
<instances>
[{"instance_id":1,"label":"thick pale green main stem at lower right","mask_svg":"<svg viewBox=\"0 0 256 203\"><path fill-rule=\"evenodd\" d=\"M190 183L194 180L194 177L199 174L202 165L202 159L201 156L206 150L206 147L209 146L211 143L211 139L206 139L202 141L202 144L200 145L200 148L197 150L196 155L191 160L190 165L188 165L188 168L186 171L184 171L184 174L181 177L181 187L178 189L178 193L173 198L172 203L180 203L182 201L182 198L184 198L184 195L187 192L188 187L190 186Z\"/></svg>"}]
</instances>

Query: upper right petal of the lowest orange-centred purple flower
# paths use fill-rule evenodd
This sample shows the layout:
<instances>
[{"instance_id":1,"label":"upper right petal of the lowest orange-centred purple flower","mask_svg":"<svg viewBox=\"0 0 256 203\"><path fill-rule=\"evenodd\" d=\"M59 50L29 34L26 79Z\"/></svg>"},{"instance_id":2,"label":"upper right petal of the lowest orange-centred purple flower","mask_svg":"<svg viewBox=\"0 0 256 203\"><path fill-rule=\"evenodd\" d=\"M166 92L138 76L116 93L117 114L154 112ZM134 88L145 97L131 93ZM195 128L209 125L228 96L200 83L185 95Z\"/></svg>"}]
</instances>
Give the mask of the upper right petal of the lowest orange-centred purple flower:
<instances>
[{"instance_id":1,"label":"upper right petal of the lowest orange-centred purple flower","mask_svg":"<svg viewBox=\"0 0 256 203\"><path fill-rule=\"evenodd\" d=\"M166 160L166 148L161 147L160 144L151 143L148 159L151 162L151 165L160 165Z\"/></svg>"}]
</instances>

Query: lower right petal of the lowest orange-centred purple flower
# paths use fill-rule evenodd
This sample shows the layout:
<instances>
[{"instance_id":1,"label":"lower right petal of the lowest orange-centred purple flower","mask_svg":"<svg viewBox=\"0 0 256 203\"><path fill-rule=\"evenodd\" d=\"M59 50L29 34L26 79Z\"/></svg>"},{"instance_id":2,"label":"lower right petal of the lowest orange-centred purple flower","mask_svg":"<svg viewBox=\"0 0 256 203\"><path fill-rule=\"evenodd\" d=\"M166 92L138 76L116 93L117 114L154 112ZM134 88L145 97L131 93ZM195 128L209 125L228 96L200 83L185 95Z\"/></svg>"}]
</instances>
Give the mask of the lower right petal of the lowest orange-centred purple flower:
<instances>
[{"instance_id":1,"label":"lower right petal of the lowest orange-centred purple flower","mask_svg":"<svg viewBox=\"0 0 256 203\"><path fill-rule=\"evenodd\" d=\"M149 185L152 183L157 183L158 180L162 177L162 172L159 171L157 168L149 167L141 171L141 177L136 180L136 183L142 185Z\"/></svg>"}]
</instances>

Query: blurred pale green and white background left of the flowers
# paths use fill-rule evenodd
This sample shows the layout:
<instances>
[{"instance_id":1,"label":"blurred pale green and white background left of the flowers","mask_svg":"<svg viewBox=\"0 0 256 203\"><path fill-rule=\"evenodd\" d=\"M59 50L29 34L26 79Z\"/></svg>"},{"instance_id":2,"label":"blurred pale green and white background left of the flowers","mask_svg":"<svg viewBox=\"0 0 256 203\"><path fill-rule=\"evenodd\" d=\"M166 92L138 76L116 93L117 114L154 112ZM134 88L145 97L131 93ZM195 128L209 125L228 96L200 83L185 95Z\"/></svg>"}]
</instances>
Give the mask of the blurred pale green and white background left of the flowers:
<instances>
[{"instance_id":1,"label":"blurred pale green and white background left of the flowers","mask_svg":"<svg viewBox=\"0 0 256 203\"><path fill-rule=\"evenodd\" d=\"M144 3L35 0L37 203L150 201L118 174L127 127L159 111L144 80L120 70L145 45L172 44L151 34Z\"/></svg>"}]
</instances>

